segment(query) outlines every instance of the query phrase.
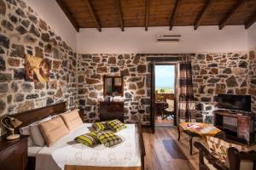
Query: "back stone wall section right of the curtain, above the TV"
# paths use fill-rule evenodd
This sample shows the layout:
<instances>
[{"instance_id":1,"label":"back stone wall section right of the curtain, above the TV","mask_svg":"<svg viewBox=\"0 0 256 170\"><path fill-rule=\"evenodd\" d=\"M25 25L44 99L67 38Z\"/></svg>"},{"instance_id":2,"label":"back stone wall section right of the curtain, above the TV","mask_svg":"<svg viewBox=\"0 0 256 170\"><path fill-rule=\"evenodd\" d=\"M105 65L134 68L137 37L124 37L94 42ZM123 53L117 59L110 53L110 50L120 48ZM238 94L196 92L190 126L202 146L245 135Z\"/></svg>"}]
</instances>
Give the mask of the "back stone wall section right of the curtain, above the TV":
<instances>
[{"instance_id":1,"label":"back stone wall section right of the curtain, above the TV","mask_svg":"<svg viewBox=\"0 0 256 170\"><path fill-rule=\"evenodd\" d=\"M193 56L194 94L205 122L212 122L218 94L248 94L248 62L247 52Z\"/></svg>"}]
</instances>

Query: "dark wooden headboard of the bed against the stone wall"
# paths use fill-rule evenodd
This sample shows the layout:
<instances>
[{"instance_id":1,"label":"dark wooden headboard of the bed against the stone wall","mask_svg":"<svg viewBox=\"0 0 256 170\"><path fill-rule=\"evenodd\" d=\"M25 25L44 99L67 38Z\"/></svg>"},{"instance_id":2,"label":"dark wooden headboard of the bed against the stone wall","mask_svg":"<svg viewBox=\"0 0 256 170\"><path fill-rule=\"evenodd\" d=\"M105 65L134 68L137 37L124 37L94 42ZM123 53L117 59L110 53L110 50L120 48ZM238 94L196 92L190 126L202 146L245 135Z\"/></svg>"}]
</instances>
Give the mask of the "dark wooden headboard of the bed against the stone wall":
<instances>
[{"instance_id":1,"label":"dark wooden headboard of the bed against the stone wall","mask_svg":"<svg viewBox=\"0 0 256 170\"><path fill-rule=\"evenodd\" d=\"M25 111L22 113L18 113L16 115L12 115L13 117L17 118L22 124L17 127L15 130L19 130L21 127L26 127L27 125L32 124L33 122L40 121L47 116L54 116L61 114L66 109L67 102L61 102L55 105L47 105L45 107L41 107L32 111Z\"/></svg>"}]
</instances>

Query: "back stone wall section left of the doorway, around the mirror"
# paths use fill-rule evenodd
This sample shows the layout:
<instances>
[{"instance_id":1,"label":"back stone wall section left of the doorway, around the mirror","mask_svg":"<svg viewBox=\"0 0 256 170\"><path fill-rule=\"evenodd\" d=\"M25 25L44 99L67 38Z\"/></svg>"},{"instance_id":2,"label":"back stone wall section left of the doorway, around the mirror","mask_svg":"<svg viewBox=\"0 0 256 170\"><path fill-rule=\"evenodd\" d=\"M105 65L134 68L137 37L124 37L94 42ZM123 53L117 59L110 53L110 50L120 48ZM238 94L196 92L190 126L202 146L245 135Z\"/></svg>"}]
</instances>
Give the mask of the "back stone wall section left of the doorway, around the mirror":
<instances>
[{"instance_id":1,"label":"back stone wall section left of the doorway, around the mirror","mask_svg":"<svg viewBox=\"0 0 256 170\"><path fill-rule=\"evenodd\" d=\"M84 119L98 119L98 101L103 100L103 76L122 76L125 101L125 122L149 123L150 71L145 55L140 54L79 54L78 101Z\"/></svg>"}]
</instances>

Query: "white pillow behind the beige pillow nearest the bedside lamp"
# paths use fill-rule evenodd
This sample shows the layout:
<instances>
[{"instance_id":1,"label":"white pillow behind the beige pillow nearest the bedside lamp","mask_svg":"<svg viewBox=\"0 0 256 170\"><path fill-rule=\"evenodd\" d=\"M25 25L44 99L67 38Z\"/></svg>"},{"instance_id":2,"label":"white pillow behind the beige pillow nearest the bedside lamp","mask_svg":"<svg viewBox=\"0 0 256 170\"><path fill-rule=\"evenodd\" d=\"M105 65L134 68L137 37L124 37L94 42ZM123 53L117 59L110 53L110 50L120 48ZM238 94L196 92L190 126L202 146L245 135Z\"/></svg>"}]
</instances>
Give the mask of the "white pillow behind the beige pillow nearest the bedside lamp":
<instances>
[{"instance_id":1,"label":"white pillow behind the beige pillow nearest the bedside lamp","mask_svg":"<svg viewBox=\"0 0 256 170\"><path fill-rule=\"evenodd\" d=\"M45 144L44 136L38 127L38 123L49 121L49 120L51 120L51 116L48 116L48 117L42 119L41 121L34 122L29 126L33 144L38 145L38 146L44 146L44 144Z\"/></svg>"}]
</instances>

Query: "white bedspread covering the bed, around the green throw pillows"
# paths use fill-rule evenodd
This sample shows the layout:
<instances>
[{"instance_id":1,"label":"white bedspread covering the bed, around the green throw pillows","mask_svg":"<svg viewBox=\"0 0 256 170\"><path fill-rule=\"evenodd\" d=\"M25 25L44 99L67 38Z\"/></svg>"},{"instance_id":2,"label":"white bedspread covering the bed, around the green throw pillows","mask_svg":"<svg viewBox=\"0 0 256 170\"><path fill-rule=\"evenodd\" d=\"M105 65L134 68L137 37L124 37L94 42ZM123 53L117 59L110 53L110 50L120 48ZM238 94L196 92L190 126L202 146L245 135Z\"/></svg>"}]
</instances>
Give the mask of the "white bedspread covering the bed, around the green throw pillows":
<instances>
[{"instance_id":1,"label":"white bedspread covering the bed, around the green throw pillows","mask_svg":"<svg viewBox=\"0 0 256 170\"><path fill-rule=\"evenodd\" d=\"M73 140L81 134L88 133L88 127L91 127L91 123L84 123L59 139L53 146L45 146L38 150L36 170L59 170L64 169L66 164L101 167L141 166L138 133L134 124L127 124L127 128L116 133L123 142L111 148L103 144L90 148Z\"/></svg>"}]
</instances>

